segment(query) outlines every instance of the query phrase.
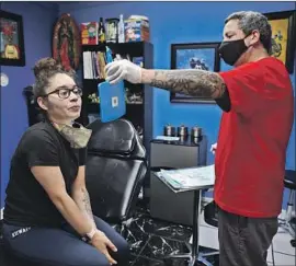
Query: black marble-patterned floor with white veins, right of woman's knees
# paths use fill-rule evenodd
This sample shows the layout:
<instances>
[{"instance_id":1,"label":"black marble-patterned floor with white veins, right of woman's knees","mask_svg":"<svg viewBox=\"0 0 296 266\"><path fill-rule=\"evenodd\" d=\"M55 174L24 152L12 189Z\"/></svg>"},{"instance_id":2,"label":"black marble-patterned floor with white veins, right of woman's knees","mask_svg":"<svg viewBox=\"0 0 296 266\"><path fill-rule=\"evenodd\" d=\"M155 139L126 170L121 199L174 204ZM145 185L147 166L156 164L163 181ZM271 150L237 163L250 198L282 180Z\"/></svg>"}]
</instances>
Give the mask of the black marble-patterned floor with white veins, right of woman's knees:
<instances>
[{"instance_id":1,"label":"black marble-patterned floor with white veins, right of woman's knees","mask_svg":"<svg viewBox=\"0 0 296 266\"><path fill-rule=\"evenodd\" d=\"M151 219L147 208L138 207L135 218L129 219L117 230L130 244L133 254L130 266L187 265L184 259L164 261L163 258L189 252L187 246L192 235L190 227ZM215 252L215 250L201 247L201 252ZM208 258L214 266L218 265L217 259L218 256Z\"/></svg>"}]
</instances>

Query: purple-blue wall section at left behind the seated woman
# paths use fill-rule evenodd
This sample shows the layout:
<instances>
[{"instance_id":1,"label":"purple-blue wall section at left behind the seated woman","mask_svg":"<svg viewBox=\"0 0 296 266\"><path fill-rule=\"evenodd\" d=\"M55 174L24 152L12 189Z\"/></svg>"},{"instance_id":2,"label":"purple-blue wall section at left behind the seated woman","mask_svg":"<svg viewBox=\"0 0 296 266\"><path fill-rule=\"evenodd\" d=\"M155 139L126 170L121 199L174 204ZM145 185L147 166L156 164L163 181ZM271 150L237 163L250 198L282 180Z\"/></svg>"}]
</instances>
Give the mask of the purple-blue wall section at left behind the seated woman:
<instances>
[{"instance_id":1,"label":"purple-blue wall section at left behind the seated woman","mask_svg":"<svg viewBox=\"0 0 296 266\"><path fill-rule=\"evenodd\" d=\"M2 2L1 10L21 14L24 25L25 67L1 66L10 83L1 88L1 207L9 180L9 165L16 144L27 128L27 111L22 90L34 82L32 67L52 55L52 27L58 15L52 3Z\"/></svg>"}]
</instances>

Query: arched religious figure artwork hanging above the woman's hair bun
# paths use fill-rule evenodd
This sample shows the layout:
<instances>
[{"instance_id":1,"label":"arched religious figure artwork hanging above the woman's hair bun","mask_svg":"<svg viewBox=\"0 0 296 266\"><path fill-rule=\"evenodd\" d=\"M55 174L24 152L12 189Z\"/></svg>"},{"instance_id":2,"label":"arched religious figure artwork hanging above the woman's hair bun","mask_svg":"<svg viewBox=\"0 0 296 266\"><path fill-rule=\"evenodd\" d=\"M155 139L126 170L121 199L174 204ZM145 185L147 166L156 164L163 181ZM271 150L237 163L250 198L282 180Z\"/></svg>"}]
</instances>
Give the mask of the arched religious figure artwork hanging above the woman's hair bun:
<instances>
[{"instance_id":1,"label":"arched religious figure artwork hanging above the woman's hair bun","mask_svg":"<svg viewBox=\"0 0 296 266\"><path fill-rule=\"evenodd\" d=\"M53 57L66 70L78 69L81 39L79 27L70 14L61 14L54 30Z\"/></svg>"}]
</instances>

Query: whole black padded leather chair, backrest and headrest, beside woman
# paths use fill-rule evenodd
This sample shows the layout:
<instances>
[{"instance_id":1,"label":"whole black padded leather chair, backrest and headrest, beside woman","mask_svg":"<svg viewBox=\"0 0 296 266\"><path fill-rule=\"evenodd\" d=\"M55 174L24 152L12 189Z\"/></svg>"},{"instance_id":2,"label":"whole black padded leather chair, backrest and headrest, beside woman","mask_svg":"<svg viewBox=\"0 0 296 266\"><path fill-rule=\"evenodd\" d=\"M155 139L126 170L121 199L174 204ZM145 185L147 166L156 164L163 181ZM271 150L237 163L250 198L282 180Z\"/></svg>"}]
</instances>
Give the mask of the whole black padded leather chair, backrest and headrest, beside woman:
<instances>
[{"instance_id":1,"label":"whole black padded leather chair, backrest and headrest, beside woman","mask_svg":"<svg viewBox=\"0 0 296 266\"><path fill-rule=\"evenodd\" d=\"M125 119L88 126L86 181L93 213L111 224L130 218L147 172L146 150Z\"/></svg>"}]
</instances>

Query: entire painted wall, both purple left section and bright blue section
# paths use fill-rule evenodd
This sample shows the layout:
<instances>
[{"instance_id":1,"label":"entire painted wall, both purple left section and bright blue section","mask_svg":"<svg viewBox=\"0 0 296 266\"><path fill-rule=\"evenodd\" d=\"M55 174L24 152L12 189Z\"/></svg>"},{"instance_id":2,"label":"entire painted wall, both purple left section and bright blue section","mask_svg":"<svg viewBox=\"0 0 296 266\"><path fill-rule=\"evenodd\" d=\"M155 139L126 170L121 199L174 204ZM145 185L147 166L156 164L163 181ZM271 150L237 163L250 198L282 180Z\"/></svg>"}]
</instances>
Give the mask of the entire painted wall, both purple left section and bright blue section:
<instances>
[{"instance_id":1,"label":"entire painted wall, both purple left section and bright blue section","mask_svg":"<svg viewBox=\"0 0 296 266\"><path fill-rule=\"evenodd\" d=\"M9 163L18 141L27 127L22 89L33 82L31 71L35 60L49 56L52 26L56 9L36 3L3 2L2 9L23 14L25 30L26 67L3 67L11 78L1 89L1 190L9 178ZM78 24L103 18L147 15L150 20L151 43L155 46L155 68L170 68L170 45L173 43L219 42L224 19L234 11L255 10L274 12L295 9L294 2L60 2L59 14L70 13ZM225 65L221 70L227 69ZM22 76L22 77L21 77ZM295 72L291 76L295 88ZM12 103L12 104L11 104ZM15 111L15 114L12 112ZM209 143L217 139L221 112L216 105L171 104L169 93L155 89L153 136L162 134L163 125L198 125L208 136ZM208 163L214 157L208 152ZM287 151L288 169L295 169L295 129ZM1 194L2 206L3 193ZM286 200L284 200L285 203Z\"/></svg>"}]
</instances>

